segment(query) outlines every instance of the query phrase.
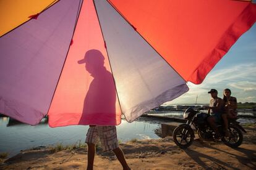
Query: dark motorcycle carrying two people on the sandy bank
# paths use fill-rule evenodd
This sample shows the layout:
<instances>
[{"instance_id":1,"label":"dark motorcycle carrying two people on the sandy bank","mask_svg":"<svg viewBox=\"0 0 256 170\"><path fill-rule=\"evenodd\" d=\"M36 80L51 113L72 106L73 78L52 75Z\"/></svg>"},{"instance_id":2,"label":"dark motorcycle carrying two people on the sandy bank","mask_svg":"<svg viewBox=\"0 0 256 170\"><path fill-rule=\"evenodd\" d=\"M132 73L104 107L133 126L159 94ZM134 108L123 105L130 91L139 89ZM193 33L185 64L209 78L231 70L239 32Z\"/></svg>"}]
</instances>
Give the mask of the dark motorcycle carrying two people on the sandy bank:
<instances>
[{"instance_id":1,"label":"dark motorcycle carrying two people on the sandy bank","mask_svg":"<svg viewBox=\"0 0 256 170\"><path fill-rule=\"evenodd\" d=\"M216 141L220 139L215 131L210 127L207 122L208 114L200 112L202 108L194 110L192 107L187 108L184 112L184 119L187 120L187 123L180 124L173 131L173 140L177 146L180 148L189 147L195 138L194 130L192 125L197 131L198 137L203 140ZM242 144L243 134L245 129L239 124L236 119L229 119L228 131L229 137L224 136L223 124L217 124L218 132L221 134L221 141L228 145L231 148L239 147Z\"/></svg>"}]
</instances>

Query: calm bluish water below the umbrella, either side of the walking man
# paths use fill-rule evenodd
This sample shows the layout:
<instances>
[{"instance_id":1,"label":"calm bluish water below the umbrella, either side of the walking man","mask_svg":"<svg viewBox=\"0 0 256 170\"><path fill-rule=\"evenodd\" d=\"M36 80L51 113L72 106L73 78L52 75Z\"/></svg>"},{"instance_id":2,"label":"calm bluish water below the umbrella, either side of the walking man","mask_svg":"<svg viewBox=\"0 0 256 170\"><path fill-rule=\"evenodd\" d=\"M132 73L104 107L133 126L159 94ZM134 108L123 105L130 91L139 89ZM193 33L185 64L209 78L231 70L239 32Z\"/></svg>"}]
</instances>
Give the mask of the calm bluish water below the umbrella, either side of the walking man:
<instances>
[{"instance_id":1,"label":"calm bluish water below the umbrella, either side of the walking man","mask_svg":"<svg viewBox=\"0 0 256 170\"><path fill-rule=\"evenodd\" d=\"M11 121L9 121L11 120ZM122 123L117 126L117 137L122 142L137 139L158 139L154 130L161 126L163 121L150 121L139 118L133 123ZM40 124L30 126L14 119L0 117L0 153L8 152L13 156L20 150L38 147L40 145L75 144L85 141L88 126L66 126L51 128L43 119Z\"/></svg>"}]
</instances>

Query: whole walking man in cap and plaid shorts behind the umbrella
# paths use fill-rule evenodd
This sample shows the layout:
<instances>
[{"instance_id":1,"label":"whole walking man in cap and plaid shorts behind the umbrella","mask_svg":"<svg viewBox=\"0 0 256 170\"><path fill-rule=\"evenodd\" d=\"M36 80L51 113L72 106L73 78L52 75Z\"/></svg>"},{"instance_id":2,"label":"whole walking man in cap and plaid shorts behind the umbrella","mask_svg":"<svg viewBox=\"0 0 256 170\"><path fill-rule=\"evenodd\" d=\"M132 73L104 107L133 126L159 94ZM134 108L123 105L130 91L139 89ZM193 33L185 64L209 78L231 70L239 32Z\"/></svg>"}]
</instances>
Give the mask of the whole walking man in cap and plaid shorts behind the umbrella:
<instances>
[{"instance_id":1,"label":"whole walking man in cap and plaid shorts behind the umbrella","mask_svg":"<svg viewBox=\"0 0 256 170\"><path fill-rule=\"evenodd\" d=\"M121 148L118 146L116 126L92 126L93 124L116 125L116 88L112 74L104 67L104 57L100 51L87 51L84 59L85 69L93 76L88 92L83 102L83 113L80 124L90 124L87 132L88 153L87 169L93 169L95 157L94 136L100 137L104 147L111 149L123 169L130 169ZM101 125L100 124L100 125Z\"/></svg>"}]
</instances>

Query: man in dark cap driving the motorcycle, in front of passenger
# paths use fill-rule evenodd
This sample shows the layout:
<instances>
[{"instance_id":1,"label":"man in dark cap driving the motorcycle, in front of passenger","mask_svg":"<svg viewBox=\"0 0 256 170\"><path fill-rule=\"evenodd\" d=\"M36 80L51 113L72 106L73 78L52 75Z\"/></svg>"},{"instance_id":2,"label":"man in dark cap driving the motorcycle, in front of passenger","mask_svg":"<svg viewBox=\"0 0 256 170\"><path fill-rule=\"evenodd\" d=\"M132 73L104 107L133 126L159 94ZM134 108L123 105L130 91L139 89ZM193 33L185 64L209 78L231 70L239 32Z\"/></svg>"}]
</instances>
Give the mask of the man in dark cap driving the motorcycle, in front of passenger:
<instances>
[{"instance_id":1,"label":"man in dark cap driving the motorcycle, in front of passenger","mask_svg":"<svg viewBox=\"0 0 256 170\"><path fill-rule=\"evenodd\" d=\"M207 121L211 128L216 132L217 136L220 136L216 123L222 123L224 102L220 97L218 97L218 91L216 91L216 89L211 89L208 94L211 94L211 100L208 108L208 114L210 114L210 116L207 118Z\"/></svg>"}]
</instances>

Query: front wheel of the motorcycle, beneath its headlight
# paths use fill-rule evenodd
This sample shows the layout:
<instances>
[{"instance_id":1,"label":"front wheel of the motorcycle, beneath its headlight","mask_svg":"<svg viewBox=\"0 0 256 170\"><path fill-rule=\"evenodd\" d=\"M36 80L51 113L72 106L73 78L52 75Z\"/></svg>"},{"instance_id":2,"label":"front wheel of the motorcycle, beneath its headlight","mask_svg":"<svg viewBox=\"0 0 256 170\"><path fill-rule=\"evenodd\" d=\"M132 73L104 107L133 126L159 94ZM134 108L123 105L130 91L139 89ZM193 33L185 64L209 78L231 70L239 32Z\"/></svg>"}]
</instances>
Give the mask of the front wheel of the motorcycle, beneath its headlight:
<instances>
[{"instance_id":1,"label":"front wheel of the motorcycle, beneath its headlight","mask_svg":"<svg viewBox=\"0 0 256 170\"><path fill-rule=\"evenodd\" d=\"M189 126L177 126L173 131L173 140L180 148L189 147L194 141L194 131Z\"/></svg>"}]
</instances>

